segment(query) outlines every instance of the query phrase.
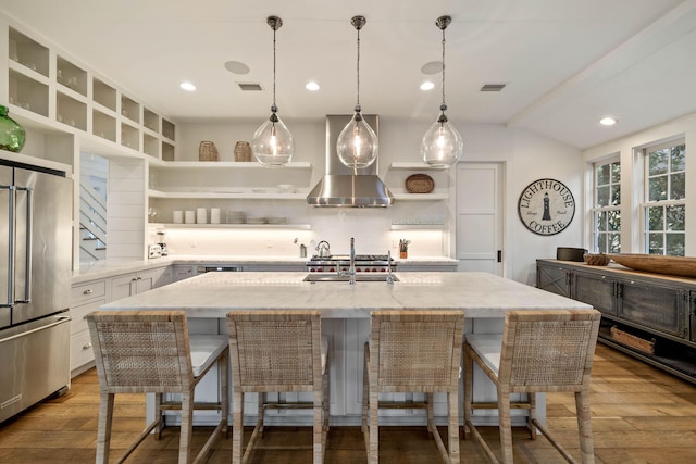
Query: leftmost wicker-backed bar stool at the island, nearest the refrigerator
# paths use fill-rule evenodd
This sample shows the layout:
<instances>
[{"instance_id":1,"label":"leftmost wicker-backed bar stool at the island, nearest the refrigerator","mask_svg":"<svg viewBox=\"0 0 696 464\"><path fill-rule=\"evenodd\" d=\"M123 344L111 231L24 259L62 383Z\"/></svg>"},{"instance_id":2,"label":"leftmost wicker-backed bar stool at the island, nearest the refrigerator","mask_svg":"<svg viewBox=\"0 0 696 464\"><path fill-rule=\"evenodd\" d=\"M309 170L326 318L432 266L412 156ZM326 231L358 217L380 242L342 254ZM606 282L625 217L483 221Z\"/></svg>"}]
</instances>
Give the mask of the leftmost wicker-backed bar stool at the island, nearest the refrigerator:
<instances>
[{"instance_id":1,"label":"leftmost wicker-backed bar stool at the island, nearest the refrigerator","mask_svg":"<svg viewBox=\"0 0 696 464\"><path fill-rule=\"evenodd\" d=\"M181 410L182 424L178 463L204 462L212 446L227 432L229 404L227 337L188 335L183 311L92 312L86 316L99 377L99 425L97 464L109 462L113 405L116 393L156 393L154 421L119 457L126 457L154 430L159 439L164 427L163 410ZM217 364L221 401L195 404L194 389L210 368ZM181 393L181 403L164 403L164 393ZM195 461L191 461L194 409L216 409L220 423Z\"/></svg>"}]
</instances>

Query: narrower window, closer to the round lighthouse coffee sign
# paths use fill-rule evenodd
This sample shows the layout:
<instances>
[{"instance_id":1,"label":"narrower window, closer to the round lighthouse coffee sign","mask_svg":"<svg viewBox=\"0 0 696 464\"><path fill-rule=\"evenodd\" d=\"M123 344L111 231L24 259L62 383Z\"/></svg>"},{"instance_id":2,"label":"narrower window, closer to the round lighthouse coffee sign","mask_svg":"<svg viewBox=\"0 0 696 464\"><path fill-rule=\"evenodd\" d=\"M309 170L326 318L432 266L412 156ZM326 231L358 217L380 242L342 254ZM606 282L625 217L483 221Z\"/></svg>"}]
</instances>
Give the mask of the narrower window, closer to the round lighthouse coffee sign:
<instances>
[{"instance_id":1,"label":"narrower window, closer to the round lighthouse coffee sign","mask_svg":"<svg viewBox=\"0 0 696 464\"><path fill-rule=\"evenodd\" d=\"M594 164L593 242L600 253L621 251L621 162Z\"/></svg>"}]
</instances>

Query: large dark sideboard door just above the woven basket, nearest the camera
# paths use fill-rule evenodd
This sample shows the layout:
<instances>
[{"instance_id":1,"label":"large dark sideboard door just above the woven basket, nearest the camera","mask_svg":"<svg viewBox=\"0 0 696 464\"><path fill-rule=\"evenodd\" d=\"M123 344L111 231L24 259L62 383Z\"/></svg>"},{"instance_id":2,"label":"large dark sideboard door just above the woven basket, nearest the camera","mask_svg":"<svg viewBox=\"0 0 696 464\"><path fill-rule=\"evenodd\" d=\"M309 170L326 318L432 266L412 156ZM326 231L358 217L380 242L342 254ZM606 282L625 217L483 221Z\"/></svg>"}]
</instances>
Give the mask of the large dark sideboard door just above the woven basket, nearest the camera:
<instances>
[{"instance_id":1,"label":"large dark sideboard door just above the woven basket, nearest the camera","mask_svg":"<svg viewBox=\"0 0 696 464\"><path fill-rule=\"evenodd\" d=\"M676 337L687 337L685 290L642 280L623 280L619 285L619 316Z\"/></svg>"}]
</instances>

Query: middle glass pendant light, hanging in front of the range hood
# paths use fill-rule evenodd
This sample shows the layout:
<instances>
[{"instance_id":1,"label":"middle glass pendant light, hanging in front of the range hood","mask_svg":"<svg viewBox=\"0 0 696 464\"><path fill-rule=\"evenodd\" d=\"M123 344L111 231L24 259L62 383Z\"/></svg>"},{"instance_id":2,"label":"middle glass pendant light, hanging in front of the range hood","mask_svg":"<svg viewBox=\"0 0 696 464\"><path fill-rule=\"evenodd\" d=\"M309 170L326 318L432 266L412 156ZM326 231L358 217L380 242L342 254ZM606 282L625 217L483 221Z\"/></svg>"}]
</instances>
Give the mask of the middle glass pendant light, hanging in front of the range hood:
<instances>
[{"instance_id":1,"label":"middle glass pendant light, hanging in front of the range hood","mask_svg":"<svg viewBox=\"0 0 696 464\"><path fill-rule=\"evenodd\" d=\"M338 159L351 170L368 167L374 163L377 159L380 148L377 135L362 117L362 110L360 108L360 29L365 23L364 16L353 16L350 20L350 24L358 30L358 99L356 102L356 113L340 131L336 140Z\"/></svg>"}]
</instances>

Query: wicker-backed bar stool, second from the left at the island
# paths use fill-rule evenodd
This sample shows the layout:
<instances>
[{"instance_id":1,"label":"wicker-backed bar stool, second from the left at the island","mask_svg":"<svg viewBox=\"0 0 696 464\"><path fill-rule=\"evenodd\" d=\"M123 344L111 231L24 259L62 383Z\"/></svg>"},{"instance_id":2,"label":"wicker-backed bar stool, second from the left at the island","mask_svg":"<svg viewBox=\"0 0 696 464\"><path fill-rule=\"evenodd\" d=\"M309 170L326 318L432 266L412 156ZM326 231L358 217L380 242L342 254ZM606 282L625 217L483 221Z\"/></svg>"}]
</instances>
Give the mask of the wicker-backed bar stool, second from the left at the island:
<instances>
[{"instance_id":1,"label":"wicker-backed bar stool, second from the left at the island","mask_svg":"<svg viewBox=\"0 0 696 464\"><path fill-rule=\"evenodd\" d=\"M312 446L282 448L310 448L313 463L323 463L328 434L328 355L319 311L231 311L227 333L233 379L233 464L247 462L253 449L264 448L258 441L270 409L313 410ZM265 394L302 391L312 393L311 402L271 402ZM258 393L259 411L244 449L244 394L249 392Z\"/></svg>"}]
</instances>

